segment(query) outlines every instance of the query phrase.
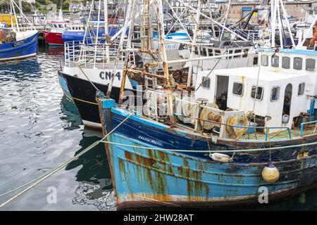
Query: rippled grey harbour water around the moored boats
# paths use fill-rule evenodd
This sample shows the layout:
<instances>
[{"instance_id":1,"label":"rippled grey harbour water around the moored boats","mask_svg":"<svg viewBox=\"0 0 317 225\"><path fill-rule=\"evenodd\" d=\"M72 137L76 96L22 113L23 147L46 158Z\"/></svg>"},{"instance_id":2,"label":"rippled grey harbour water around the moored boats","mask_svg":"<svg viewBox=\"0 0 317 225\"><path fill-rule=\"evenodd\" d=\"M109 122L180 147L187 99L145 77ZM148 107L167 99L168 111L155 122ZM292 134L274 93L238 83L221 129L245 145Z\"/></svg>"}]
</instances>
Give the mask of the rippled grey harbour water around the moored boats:
<instances>
[{"instance_id":1,"label":"rippled grey harbour water around the moored boats","mask_svg":"<svg viewBox=\"0 0 317 225\"><path fill-rule=\"evenodd\" d=\"M61 61L63 47L39 47L36 58L0 64L0 195L101 139L100 131L82 125L75 105L63 96L57 75ZM11 196L1 197L0 203ZM116 210L104 146L2 210ZM238 210L317 210L317 190Z\"/></svg>"}]
</instances>

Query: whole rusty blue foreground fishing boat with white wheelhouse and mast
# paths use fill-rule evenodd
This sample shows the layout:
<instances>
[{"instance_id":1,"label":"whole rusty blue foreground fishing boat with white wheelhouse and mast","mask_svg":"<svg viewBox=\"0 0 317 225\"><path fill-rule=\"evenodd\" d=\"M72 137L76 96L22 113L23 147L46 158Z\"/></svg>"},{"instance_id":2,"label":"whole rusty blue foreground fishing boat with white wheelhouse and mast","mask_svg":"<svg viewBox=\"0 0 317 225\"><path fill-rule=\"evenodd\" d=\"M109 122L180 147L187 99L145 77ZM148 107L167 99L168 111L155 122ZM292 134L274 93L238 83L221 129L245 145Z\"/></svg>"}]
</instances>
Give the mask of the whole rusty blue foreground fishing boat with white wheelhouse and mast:
<instances>
[{"instance_id":1,"label":"whole rusty blue foreground fishing boat with white wheelhouse and mast","mask_svg":"<svg viewBox=\"0 0 317 225\"><path fill-rule=\"evenodd\" d=\"M118 209L268 203L316 187L316 51L263 48L258 67L198 72L188 95L171 82L156 12L164 87L144 83L141 108L122 89L120 105L97 91Z\"/></svg>"}]
</instances>

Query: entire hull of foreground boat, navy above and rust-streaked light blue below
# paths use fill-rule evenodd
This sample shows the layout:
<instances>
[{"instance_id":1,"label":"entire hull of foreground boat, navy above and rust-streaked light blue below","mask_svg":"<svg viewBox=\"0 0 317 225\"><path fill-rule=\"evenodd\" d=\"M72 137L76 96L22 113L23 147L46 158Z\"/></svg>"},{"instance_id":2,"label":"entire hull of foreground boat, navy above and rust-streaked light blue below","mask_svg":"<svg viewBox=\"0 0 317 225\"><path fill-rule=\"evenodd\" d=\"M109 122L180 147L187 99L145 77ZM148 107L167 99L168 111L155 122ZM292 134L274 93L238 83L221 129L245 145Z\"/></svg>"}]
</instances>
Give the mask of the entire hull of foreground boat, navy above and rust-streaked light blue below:
<instances>
[{"instance_id":1,"label":"entire hull of foreground boat, navy above and rust-streaked light blue below","mask_svg":"<svg viewBox=\"0 0 317 225\"><path fill-rule=\"evenodd\" d=\"M101 122L106 133L129 114L113 106L111 100L101 102ZM156 129L161 130L161 138L154 139ZM182 142L178 141L180 138ZM193 141L192 138L192 135L168 130L162 124L137 115L129 117L111 133L108 141L112 143L106 144L106 150L118 208L214 207L259 203L259 195L263 191L260 187L263 186L267 188L268 201L316 186L314 145L272 150L273 164L280 172L280 179L275 184L268 184L261 176L263 168L268 164L268 150L237 152L232 162L221 163L211 160L208 153L197 150L209 148L191 145L185 148L184 144ZM315 139L309 137L305 141ZM184 147L170 149L187 149L192 152L162 150L166 148L163 143L168 141L176 141ZM200 141L199 147L204 147L206 142ZM299 140L292 140L291 143L294 141ZM255 147L264 143L248 144ZM275 143L278 144L285 143ZM223 150L240 145L245 147L247 142L230 143L223 140L221 143ZM211 150L220 149L215 146Z\"/></svg>"}]
</instances>

